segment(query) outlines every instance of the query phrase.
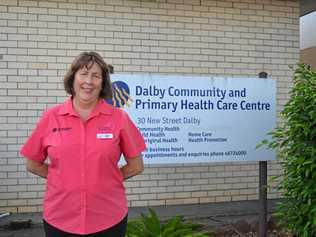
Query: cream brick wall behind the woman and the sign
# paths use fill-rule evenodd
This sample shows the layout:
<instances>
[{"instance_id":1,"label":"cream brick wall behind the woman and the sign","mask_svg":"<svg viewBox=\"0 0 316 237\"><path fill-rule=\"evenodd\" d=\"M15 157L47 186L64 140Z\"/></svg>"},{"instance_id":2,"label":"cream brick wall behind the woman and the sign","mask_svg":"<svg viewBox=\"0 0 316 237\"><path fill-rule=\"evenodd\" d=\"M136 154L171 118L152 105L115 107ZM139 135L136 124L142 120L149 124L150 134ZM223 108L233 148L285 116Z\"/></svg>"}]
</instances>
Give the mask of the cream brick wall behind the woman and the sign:
<instances>
[{"instance_id":1,"label":"cream brick wall behind the woman and the sign","mask_svg":"<svg viewBox=\"0 0 316 237\"><path fill-rule=\"evenodd\" d=\"M64 101L62 78L79 52L99 52L117 73L266 71L280 111L299 57L298 17L298 0L0 0L0 211L41 210L44 180L18 151L42 111ZM268 170L281 172L276 162ZM150 165L126 187L130 206L251 200L258 164Z\"/></svg>"}]
</instances>

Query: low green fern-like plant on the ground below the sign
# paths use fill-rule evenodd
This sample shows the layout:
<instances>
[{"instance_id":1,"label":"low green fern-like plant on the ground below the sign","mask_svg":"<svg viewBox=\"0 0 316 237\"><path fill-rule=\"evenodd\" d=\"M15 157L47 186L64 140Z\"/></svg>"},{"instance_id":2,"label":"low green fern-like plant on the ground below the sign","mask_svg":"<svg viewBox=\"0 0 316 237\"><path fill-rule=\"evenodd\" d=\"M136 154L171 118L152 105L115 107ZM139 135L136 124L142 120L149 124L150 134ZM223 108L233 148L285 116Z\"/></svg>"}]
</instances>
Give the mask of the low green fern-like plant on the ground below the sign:
<instances>
[{"instance_id":1,"label":"low green fern-like plant on the ground below the sign","mask_svg":"<svg viewBox=\"0 0 316 237\"><path fill-rule=\"evenodd\" d=\"M128 222L126 237L208 237L197 231L199 227L199 224L184 222L181 216L161 222L155 211L149 208L148 215L142 213L140 219Z\"/></svg>"}]
</instances>

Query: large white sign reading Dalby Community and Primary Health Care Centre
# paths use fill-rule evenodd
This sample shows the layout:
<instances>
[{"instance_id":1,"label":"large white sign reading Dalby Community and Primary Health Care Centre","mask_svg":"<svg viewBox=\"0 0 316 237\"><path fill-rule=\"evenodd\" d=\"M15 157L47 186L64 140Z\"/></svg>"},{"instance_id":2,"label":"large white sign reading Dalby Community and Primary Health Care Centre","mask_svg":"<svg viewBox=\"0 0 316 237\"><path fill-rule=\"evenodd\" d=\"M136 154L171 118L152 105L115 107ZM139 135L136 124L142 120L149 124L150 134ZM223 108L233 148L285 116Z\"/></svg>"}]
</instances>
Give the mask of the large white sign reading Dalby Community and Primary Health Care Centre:
<instances>
[{"instance_id":1,"label":"large white sign reading Dalby Community and Primary Health Care Centre","mask_svg":"<svg viewBox=\"0 0 316 237\"><path fill-rule=\"evenodd\" d=\"M256 145L276 125L271 79L113 75L114 99L142 132L147 164L273 160Z\"/></svg>"}]
</instances>

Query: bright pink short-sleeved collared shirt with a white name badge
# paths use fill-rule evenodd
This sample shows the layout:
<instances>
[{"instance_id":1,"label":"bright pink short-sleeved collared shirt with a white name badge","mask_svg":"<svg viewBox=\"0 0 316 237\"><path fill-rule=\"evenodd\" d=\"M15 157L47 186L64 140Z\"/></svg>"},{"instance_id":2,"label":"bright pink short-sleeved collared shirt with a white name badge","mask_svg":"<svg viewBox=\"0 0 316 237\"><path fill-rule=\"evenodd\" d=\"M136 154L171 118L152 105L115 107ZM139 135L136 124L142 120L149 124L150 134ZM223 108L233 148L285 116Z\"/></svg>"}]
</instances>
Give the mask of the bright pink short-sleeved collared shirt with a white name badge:
<instances>
[{"instance_id":1,"label":"bright pink short-sleeved collared shirt with a white name badge","mask_svg":"<svg viewBox=\"0 0 316 237\"><path fill-rule=\"evenodd\" d=\"M121 154L136 157L144 139L122 109L100 101L83 122L71 99L47 110L21 149L28 159L49 159L44 219L70 233L95 233L127 214Z\"/></svg>"}]
</instances>

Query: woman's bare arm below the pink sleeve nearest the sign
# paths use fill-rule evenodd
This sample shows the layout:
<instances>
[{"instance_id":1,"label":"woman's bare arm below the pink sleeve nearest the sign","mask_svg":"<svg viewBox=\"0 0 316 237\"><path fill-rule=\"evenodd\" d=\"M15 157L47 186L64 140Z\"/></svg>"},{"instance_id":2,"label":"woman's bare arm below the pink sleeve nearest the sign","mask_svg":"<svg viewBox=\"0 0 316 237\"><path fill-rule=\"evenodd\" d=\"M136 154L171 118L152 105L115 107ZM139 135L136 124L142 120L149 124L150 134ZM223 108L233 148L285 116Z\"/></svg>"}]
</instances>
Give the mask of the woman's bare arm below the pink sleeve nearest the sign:
<instances>
[{"instance_id":1,"label":"woman's bare arm below the pink sleeve nearest the sign","mask_svg":"<svg viewBox=\"0 0 316 237\"><path fill-rule=\"evenodd\" d=\"M126 164L122 166L121 172L124 180L129 179L135 175L141 174L144 170L143 156L140 154L136 157L125 158Z\"/></svg>"}]
</instances>

